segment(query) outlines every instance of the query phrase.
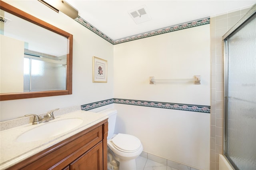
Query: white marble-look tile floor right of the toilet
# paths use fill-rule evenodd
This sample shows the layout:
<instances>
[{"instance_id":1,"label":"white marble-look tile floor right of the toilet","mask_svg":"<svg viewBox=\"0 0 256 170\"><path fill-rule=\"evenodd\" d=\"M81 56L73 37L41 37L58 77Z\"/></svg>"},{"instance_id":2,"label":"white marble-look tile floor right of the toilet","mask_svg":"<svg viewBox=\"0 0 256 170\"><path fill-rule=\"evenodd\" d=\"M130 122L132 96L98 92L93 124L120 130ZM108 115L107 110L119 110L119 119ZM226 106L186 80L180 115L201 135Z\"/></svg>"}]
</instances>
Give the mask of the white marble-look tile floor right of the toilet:
<instances>
[{"instance_id":1,"label":"white marble-look tile floor right of the toilet","mask_svg":"<svg viewBox=\"0 0 256 170\"><path fill-rule=\"evenodd\" d=\"M137 170L177 170L170 166L160 164L142 156L136 158Z\"/></svg>"}]
</instances>

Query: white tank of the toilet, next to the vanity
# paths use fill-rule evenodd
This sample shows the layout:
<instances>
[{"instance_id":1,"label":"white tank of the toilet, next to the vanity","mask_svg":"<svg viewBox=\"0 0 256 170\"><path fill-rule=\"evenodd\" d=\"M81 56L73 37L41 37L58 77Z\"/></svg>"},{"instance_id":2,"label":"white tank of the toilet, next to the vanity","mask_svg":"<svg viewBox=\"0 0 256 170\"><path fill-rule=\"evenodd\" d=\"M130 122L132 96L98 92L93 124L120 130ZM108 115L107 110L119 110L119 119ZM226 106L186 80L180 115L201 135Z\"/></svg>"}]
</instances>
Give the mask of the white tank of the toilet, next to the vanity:
<instances>
[{"instance_id":1,"label":"white tank of the toilet, next to the vanity","mask_svg":"<svg viewBox=\"0 0 256 170\"><path fill-rule=\"evenodd\" d=\"M115 125L116 125L117 110L116 109L105 109L98 113L108 115L108 139L112 138L114 136L114 130L115 130Z\"/></svg>"}]
</instances>

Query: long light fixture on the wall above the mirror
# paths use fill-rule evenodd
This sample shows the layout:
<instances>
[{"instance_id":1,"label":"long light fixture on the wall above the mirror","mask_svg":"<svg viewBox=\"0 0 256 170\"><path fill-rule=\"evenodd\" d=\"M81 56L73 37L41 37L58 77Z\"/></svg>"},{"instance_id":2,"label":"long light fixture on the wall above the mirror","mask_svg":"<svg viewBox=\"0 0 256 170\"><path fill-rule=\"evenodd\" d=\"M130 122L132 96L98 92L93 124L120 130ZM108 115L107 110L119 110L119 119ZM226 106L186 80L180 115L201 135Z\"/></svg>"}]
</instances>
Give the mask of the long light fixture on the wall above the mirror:
<instances>
[{"instance_id":1,"label":"long light fixture on the wall above the mirror","mask_svg":"<svg viewBox=\"0 0 256 170\"><path fill-rule=\"evenodd\" d=\"M38 0L56 12L63 12L72 19L78 17L78 10L64 0Z\"/></svg>"}]
</instances>

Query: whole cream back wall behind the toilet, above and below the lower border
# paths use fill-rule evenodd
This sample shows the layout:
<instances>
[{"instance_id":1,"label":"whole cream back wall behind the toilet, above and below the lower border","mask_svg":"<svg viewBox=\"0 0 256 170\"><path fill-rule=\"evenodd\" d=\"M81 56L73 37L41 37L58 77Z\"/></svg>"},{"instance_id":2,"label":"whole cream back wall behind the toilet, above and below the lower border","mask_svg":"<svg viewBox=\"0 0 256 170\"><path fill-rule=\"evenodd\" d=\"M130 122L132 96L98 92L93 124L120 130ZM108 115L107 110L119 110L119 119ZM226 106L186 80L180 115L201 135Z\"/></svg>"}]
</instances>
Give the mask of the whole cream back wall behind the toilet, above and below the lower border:
<instances>
[{"instance_id":1,"label":"whole cream back wall behind the toilet, above and below the lower border","mask_svg":"<svg viewBox=\"0 0 256 170\"><path fill-rule=\"evenodd\" d=\"M149 84L149 77L193 78L201 85ZM210 105L210 25L114 46L114 98ZM144 151L209 169L210 114L114 104L116 133L140 138Z\"/></svg>"}]
</instances>

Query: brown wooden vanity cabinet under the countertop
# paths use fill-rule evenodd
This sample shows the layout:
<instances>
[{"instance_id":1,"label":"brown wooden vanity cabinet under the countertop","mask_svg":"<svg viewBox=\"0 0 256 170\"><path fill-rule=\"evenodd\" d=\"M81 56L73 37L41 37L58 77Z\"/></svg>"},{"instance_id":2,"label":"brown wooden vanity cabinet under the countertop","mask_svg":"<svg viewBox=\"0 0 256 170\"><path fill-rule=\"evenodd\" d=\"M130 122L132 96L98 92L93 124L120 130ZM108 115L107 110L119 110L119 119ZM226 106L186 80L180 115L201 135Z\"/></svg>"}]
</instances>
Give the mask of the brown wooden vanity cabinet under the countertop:
<instances>
[{"instance_id":1,"label":"brown wooden vanity cabinet under the countertop","mask_svg":"<svg viewBox=\"0 0 256 170\"><path fill-rule=\"evenodd\" d=\"M107 136L106 119L8 170L107 170Z\"/></svg>"}]
</instances>

